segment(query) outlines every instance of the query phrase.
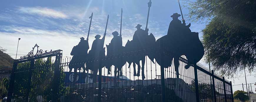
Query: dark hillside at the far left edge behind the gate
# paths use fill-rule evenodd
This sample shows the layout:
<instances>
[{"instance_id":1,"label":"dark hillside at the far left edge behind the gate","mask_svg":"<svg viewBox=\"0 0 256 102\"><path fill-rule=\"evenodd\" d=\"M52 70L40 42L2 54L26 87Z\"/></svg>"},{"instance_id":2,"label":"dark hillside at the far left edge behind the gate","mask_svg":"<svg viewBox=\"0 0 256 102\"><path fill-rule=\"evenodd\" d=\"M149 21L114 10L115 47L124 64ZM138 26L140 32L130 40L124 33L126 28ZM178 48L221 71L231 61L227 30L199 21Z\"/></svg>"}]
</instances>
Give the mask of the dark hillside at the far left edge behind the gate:
<instances>
[{"instance_id":1,"label":"dark hillside at the far left edge behind the gate","mask_svg":"<svg viewBox=\"0 0 256 102\"><path fill-rule=\"evenodd\" d=\"M14 59L0 50L0 71L11 70Z\"/></svg>"}]
</instances>

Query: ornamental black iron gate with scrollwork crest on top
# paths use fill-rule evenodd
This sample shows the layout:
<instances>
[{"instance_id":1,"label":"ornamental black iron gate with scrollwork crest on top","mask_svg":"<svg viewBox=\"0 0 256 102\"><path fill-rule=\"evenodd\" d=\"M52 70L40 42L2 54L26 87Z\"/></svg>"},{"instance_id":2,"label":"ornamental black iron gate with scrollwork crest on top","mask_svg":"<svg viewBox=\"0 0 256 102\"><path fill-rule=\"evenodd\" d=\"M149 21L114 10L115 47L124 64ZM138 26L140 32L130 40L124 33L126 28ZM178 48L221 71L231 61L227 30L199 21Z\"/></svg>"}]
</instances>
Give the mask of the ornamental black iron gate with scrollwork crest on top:
<instances>
[{"instance_id":1,"label":"ornamental black iron gate with scrollwork crest on top","mask_svg":"<svg viewBox=\"0 0 256 102\"><path fill-rule=\"evenodd\" d=\"M21 59L14 60L13 69L7 74L8 91L4 94L7 102L57 101L59 95L59 76L61 74L62 50L43 51L36 44ZM55 60L51 60L55 57ZM3 74L1 74L1 77ZM6 88L7 88L6 87ZM7 96L7 97L6 97Z\"/></svg>"}]
</instances>

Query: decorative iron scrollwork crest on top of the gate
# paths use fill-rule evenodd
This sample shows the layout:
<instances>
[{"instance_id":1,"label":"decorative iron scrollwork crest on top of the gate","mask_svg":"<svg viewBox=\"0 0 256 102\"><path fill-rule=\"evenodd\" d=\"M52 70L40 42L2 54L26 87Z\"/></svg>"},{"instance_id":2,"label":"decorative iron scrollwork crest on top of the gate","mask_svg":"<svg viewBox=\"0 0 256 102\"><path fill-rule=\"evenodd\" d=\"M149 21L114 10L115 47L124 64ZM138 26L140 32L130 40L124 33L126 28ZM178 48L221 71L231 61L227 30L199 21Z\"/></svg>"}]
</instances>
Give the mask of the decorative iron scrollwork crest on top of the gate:
<instances>
[{"instance_id":1,"label":"decorative iron scrollwork crest on top of the gate","mask_svg":"<svg viewBox=\"0 0 256 102\"><path fill-rule=\"evenodd\" d=\"M36 54L34 54L34 51L36 51ZM22 56L20 58L22 59L22 58L26 58L26 57L36 56L36 55L44 54L44 53L51 52L51 51L52 50L50 50L50 51L48 51L48 50L43 51L42 49L39 49L39 46L36 44L32 48L32 50L26 56Z\"/></svg>"}]
</instances>

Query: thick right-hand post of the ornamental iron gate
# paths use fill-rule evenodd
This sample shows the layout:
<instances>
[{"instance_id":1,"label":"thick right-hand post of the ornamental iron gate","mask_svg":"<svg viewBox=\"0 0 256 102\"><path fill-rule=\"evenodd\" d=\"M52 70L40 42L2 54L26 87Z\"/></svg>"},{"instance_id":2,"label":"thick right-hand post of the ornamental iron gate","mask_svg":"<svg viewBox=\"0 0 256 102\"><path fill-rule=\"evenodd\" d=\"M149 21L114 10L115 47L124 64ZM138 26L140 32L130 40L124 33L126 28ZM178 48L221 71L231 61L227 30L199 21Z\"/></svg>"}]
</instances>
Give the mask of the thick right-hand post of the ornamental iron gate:
<instances>
[{"instance_id":1,"label":"thick right-hand post of the ornamental iron gate","mask_svg":"<svg viewBox=\"0 0 256 102\"><path fill-rule=\"evenodd\" d=\"M53 87L52 87L52 96L51 102L56 102L58 100L59 92L59 76L60 76L60 62L61 62L62 53L58 53L55 58L54 64L54 76L53 76Z\"/></svg>"}]
</instances>

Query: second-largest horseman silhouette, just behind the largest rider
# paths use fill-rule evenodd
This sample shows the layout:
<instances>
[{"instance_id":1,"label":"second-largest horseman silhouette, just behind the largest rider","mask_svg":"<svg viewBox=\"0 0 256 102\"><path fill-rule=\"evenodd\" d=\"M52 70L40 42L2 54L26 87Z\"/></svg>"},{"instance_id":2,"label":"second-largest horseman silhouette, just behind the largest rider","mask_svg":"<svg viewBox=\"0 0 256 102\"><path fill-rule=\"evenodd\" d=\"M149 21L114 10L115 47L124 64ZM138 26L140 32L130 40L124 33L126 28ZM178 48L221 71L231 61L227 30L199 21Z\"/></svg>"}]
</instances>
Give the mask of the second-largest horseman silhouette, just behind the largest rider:
<instances>
[{"instance_id":1,"label":"second-largest horseman silhouette, just behind the largest rider","mask_svg":"<svg viewBox=\"0 0 256 102\"><path fill-rule=\"evenodd\" d=\"M152 45L155 43L155 37L151 33L148 35L148 30L141 29L142 25L137 24L135 28L137 30L134 32L132 41L127 41L125 45L125 51L131 52L134 56L130 56L127 58L127 62L129 63L128 68L130 68L133 63L134 76L140 76L140 68L142 69L142 79L145 78L144 75L144 65L145 65L145 57L149 56L151 61L154 63L154 54L146 53L145 50L151 49ZM140 61L142 61L142 66L140 66ZM138 65L138 71L136 73L136 64Z\"/></svg>"}]
</instances>

